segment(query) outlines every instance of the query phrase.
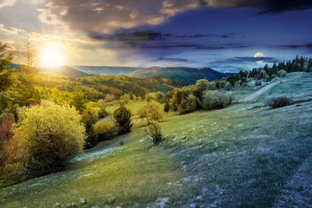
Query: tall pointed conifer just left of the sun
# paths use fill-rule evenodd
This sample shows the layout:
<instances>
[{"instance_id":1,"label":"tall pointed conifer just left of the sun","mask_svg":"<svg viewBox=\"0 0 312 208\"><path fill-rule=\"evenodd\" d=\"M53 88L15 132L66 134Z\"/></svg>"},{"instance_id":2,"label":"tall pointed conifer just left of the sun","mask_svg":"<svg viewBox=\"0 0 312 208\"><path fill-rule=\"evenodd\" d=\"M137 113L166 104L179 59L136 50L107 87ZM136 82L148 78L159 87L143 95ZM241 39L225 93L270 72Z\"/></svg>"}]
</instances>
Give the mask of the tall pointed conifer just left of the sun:
<instances>
[{"instance_id":1,"label":"tall pointed conifer just left of the sun","mask_svg":"<svg viewBox=\"0 0 312 208\"><path fill-rule=\"evenodd\" d=\"M16 101L22 105L36 104L39 100L35 100L35 83L38 69L35 66L36 53L31 48L32 41L24 41L25 50L22 52L23 57L26 59L24 64L19 64L22 73L17 77L17 94L14 95Z\"/></svg>"}]
</instances>

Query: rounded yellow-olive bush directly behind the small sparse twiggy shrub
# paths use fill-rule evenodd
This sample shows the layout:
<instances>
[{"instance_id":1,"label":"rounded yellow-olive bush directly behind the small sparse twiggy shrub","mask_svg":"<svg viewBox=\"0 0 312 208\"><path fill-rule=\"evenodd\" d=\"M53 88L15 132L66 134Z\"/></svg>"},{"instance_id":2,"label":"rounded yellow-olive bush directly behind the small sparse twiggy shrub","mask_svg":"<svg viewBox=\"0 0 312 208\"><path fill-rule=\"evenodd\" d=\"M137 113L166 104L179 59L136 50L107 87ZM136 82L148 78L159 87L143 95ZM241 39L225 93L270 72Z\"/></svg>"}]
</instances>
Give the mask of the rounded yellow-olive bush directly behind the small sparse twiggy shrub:
<instances>
[{"instance_id":1,"label":"rounded yellow-olive bush directly behind the small sparse twiggy shrub","mask_svg":"<svg viewBox=\"0 0 312 208\"><path fill-rule=\"evenodd\" d=\"M151 100L139 110L138 114L141 118L146 118L149 123L150 120L160 120L162 118L162 109L159 102Z\"/></svg>"}]
</instances>

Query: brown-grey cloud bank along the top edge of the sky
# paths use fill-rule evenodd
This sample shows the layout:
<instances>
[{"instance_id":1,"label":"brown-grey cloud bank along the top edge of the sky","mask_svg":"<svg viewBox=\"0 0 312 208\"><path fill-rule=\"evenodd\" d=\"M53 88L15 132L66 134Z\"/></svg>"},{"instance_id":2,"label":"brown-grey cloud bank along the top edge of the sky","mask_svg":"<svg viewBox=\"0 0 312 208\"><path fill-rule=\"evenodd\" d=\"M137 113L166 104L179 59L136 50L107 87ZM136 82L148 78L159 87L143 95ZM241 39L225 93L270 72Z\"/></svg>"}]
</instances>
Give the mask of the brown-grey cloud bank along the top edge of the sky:
<instances>
[{"instance_id":1,"label":"brown-grey cloud bank along the top edge of the sky","mask_svg":"<svg viewBox=\"0 0 312 208\"><path fill-rule=\"evenodd\" d=\"M142 24L161 24L178 13L196 8L257 8L258 14L267 14L311 7L311 0L52 0L38 11L45 23L86 33L112 34Z\"/></svg>"}]
</instances>

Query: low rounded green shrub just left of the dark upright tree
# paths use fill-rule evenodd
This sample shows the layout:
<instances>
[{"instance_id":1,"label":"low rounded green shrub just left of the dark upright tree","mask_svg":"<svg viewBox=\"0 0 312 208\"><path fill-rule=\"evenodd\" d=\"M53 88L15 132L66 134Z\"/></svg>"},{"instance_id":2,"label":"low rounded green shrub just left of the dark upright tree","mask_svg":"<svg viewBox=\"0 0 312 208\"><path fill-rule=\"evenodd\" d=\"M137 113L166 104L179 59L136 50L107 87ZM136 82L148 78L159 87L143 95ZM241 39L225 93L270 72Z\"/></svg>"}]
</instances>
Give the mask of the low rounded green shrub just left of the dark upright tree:
<instances>
[{"instance_id":1,"label":"low rounded green shrub just left of the dark upright tree","mask_svg":"<svg viewBox=\"0 0 312 208\"><path fill-rule=\"evenodd\" d=\"M94 133L98 141L111 139L118 135L118 127L114 121L98 122L94 125Z\"/></svg>"}]
</instances>

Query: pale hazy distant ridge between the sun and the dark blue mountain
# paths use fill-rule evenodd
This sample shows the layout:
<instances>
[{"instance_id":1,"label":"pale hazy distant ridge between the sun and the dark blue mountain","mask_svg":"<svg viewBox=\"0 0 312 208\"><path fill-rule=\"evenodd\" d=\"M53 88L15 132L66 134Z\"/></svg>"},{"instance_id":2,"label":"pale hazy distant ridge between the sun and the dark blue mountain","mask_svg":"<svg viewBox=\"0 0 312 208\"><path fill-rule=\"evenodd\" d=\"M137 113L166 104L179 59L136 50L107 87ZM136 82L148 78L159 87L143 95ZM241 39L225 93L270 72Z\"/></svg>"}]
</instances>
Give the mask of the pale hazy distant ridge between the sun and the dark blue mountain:
<instances>
[{"instance_id":1,"label":"pale hazy distant ridge between the sun and the dark blue mountain","mask_svg":"<svg viewBox=\"0 0 312 208\"><path fill-rule=\"evenodd\" d=\"M74 69L94 75L126 75L140 68L122 66L71 66Z\"/></svg>"}]
</instances>

